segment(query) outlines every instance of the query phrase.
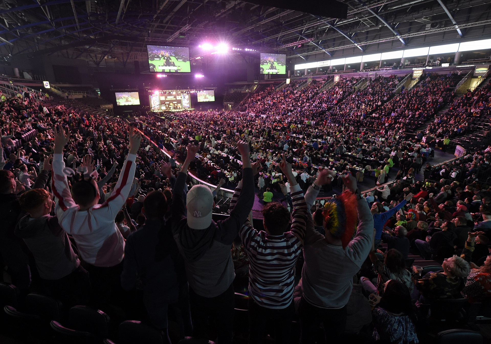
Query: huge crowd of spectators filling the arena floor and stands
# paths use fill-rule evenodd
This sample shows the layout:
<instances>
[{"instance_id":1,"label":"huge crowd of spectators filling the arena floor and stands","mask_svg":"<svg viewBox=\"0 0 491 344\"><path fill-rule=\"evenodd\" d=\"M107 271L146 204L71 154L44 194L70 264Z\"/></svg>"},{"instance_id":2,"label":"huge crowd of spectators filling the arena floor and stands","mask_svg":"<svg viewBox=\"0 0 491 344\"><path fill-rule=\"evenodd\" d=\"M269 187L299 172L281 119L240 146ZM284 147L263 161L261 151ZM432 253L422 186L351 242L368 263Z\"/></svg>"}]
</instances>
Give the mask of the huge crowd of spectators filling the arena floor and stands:
<instances>
[{"instance_id":1,"label":"huge crowd of spectators filling the arena floor and stands","mask_svg":"<svg viewBox=\"0 0 491 344\"><path fill-rule=\"evenodd\" d=\"M431 166L436 142L404 134L452 100L457 76L428 75L395 97L396 77L356 82L270 86L245 112L173 122L95 116L29 94L3 101L0 253L19 309L39 292L65 309L146 320L166 343L177 324L173 341L226 344L238 331L235 289L248 297L249 343L291 342L294 319L305 344L418 343L439 301L489 301L491 148ZM225 179L229 217L212 219L215 195L191 187L188 170ZM362 194L357 179L372 172L379 185L395 180ZM254 185L277 188L290 206L265 196L254 221ZM343 194L316 201L336 185ZM441 268L406 266L410 252Z\"/></svg>"}]
</instances>

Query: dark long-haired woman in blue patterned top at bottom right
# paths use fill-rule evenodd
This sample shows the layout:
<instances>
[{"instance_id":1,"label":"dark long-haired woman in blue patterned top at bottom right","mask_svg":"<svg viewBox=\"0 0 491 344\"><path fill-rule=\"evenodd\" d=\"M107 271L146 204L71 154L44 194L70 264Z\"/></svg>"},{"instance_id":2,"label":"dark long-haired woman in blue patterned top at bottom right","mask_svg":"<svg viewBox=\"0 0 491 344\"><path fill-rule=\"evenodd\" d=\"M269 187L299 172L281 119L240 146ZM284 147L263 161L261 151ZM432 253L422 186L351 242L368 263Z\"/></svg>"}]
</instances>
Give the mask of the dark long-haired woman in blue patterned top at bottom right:
<instances>
[{"instance_id":1,"label":"dark long-haired woman in blue patterned top at bottom right","mask_svg":"<svg viewBox=\"0 0 491 344\"><path fill-rule=\"evenodd\" d=\"M414 328L415 310L408 287L399 281L385 283L382 298L373 298L376 305L372 318L373 338L377 343L415 344L419 343Z\"/></svg>"}]
</instances>

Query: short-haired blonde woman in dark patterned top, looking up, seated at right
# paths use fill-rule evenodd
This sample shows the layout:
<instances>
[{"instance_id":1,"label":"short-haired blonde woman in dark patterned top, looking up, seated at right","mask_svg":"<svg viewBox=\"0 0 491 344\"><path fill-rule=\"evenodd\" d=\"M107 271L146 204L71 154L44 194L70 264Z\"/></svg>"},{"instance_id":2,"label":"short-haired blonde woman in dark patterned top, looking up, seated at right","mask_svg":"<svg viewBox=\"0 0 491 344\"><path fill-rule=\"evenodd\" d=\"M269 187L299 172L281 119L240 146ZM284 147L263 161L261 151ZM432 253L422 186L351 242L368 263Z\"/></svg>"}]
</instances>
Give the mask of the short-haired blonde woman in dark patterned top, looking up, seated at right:
<instances>
[{"instance_id":1,"label":"short-haired blonde woman in dark patterned top, looking up, seated at right","mask_svg":"<svg viewBox=\"0 0 491 344\"><path fill-rule=\"evenodd\" d=\"M429 303L438 298L460 298L465 280L470 272L469 263L454 255L446 258L441 265L443 270L430 271L422 278L413 266L412 281L421 293L419 301Z\"/></svg>"}]
</instances>

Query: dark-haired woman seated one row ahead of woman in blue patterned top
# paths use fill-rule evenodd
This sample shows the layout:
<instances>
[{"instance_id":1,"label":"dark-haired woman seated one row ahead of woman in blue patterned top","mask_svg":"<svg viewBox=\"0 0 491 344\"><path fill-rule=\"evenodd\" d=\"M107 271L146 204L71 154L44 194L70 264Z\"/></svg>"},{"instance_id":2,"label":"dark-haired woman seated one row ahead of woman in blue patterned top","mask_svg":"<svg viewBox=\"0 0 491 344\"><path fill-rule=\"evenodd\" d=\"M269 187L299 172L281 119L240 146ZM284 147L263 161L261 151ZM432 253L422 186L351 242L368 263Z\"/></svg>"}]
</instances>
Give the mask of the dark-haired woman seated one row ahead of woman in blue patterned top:
<instances>
[{"instance_id":1,"label":"dark-haired woman seated one row ahead of woman in blue patterned top","mask_svg":"<svg viewBox=\"0 0 491 344\"><path fill-rule=\"evenodd\" d=\"M369 294L383 294L383 286L388 280L396 280L402 282L409 291L412 292L414 284L411 281L411 274L406 270L406 263L402 253L396 249L390 249L385 255L384 261L380 261L375 255L375 251L371 250L368 254L375 271L379 273L377 278L377 287L366 277L360 279L363 289Z\"/></svg>"}]
</instances>

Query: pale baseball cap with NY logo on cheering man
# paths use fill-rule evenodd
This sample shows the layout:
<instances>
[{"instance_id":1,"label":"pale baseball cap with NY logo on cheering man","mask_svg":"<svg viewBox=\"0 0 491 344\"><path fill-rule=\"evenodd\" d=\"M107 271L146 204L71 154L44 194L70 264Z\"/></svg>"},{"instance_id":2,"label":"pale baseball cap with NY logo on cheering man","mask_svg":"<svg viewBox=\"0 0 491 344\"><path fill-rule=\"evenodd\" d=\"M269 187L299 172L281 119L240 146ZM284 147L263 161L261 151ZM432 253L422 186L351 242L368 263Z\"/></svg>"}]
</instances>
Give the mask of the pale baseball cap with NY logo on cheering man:
<instances>
[{"instance_id":1,"label":"pale baseball cap with NY logo on cheering man","mask_svg":"<svg viewBox=\"0 0 491 344\"><path fill-rule=\"evenodd\" d=\"M192 229L206 229L212 223L213 195L205 185L194 185L186 198L188 226Z\"/></svg>"}]
</instances>

